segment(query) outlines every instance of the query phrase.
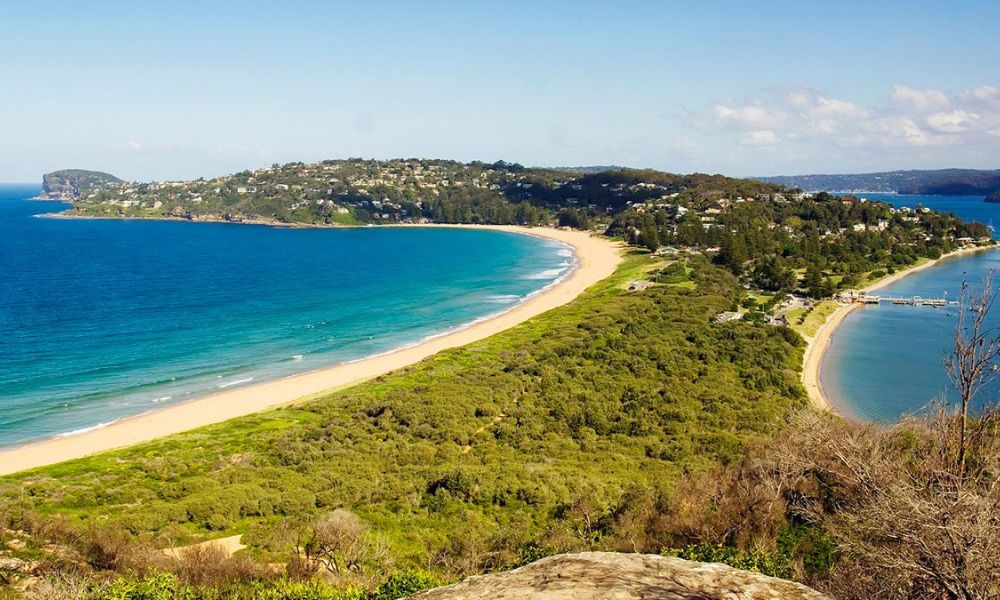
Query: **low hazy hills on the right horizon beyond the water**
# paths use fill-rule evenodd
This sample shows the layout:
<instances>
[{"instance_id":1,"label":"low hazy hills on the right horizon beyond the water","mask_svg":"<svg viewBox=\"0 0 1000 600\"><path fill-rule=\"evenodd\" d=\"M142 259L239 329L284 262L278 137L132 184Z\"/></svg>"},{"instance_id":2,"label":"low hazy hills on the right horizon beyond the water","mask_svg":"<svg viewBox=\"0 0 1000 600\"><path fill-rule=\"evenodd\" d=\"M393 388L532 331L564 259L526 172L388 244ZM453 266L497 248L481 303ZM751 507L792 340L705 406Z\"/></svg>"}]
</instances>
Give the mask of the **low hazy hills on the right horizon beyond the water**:
<instances>
[{"instance_id":1,"label":"low hazy hills on the right horizon beyond the water","mask_svg":"<svg viewBox=\"0 0 1000 600\"><path fill-rule=\"evenodd\" d=\"M987 195L1000 190L1000 169L941 169L937 171L886 171L842 175L779 175L760 181L798 187L807 191L887 192L942 196Z\"/></svg>"}]
</instances>

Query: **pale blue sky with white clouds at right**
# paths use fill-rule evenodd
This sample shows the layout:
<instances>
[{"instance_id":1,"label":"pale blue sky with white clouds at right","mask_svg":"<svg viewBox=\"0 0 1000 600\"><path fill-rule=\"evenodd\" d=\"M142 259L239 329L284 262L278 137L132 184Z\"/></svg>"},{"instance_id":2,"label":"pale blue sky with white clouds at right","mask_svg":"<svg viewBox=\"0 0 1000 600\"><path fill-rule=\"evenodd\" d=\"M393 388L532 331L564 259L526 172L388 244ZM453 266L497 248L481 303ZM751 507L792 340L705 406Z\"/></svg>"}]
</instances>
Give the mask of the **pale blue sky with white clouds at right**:
<instances>
[{"instance_id":1,"label":"pale blue sky with white clouds at right","mask_svg":"<svg viewBox=\"0 0 1000 600\"><path fill-rule=\"evenodd\" d=\"M0 181L1000 168L1000 2L0 4Z\"/></svg>"}]
</instances>

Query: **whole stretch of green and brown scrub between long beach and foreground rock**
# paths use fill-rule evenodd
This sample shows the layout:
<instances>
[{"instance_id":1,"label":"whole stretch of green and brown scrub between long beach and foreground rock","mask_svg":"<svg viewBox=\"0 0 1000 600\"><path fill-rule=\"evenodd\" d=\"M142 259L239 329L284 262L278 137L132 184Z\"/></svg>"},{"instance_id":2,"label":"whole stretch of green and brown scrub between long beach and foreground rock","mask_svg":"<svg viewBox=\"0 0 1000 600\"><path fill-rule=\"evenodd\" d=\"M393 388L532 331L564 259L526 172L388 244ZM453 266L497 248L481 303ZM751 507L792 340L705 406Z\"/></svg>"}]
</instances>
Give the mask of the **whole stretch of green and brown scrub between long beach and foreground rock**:
<instances>
[{"instance_id":1,"label":"whole stretch of green and brown scrub between long beach and foreground rock","mask_svg":"<svg viewBox=\"0 0 1000 600\"><path fill-rule=\"evenodd\" d=\"M633 253L565 307L376 381L4 478L0 574L28 598L361 600L602 549L841 599L993 597L998 413L808 408L798 335L715 318L775 298ZM233 534L249 548L185 547Z\"/></svg>"}]
</instances>

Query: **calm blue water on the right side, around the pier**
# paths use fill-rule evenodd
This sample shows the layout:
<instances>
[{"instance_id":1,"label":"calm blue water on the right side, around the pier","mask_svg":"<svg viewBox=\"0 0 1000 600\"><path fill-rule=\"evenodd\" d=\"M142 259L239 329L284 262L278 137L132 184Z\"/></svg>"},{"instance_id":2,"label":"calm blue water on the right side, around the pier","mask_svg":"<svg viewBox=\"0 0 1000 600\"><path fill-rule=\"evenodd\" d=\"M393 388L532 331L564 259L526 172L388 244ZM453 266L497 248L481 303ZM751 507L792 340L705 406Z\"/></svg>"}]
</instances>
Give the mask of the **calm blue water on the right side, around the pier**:
<instances>
[{"instance_id":1,"label":"calm blue water on the right side, around the pier","mask_svg":"<svg viewBox=\"0 0 1000 600\"><path fill-rule=\"evenodd\" d=\"M858 195L897 207L920 204L952 212L966 221L1000 226L1000 204L987 204L982 196ZM1000 268L1000 251L946 259L878 293L906 297L946 295L957 300L963 278L977 289L990 268ZM956 320L956 307L882 304L855 310L834 333L824 356L824 389L838 410L870 420L894 420L918 412L934 400L953 398L944 360L951 350ZM1000 326L1000 313L993 314L991 321ZM979 401L994 402L998 393L1000 386L993 385Z\"/></svg>"}]
</instances>

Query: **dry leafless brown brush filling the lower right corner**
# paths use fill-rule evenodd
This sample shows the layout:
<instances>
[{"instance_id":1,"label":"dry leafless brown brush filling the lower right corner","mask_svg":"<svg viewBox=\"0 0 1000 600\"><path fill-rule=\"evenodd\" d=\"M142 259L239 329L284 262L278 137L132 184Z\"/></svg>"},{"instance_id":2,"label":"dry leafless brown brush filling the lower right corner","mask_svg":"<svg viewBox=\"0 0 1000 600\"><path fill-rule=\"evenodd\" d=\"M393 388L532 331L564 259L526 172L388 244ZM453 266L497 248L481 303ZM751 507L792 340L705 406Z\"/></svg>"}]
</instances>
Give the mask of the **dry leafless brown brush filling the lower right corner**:
<instances>
[{"instance_id":1,"label":"dry leafless brown brush filling the lower right corner","mask_svg":"<svg viewBox=\"0 0 1000 600\"><path fill-rule=\"evenodd\" d=\"M789 512L840 553L811 583L845 599L1000 598L1000 438L983 436L959 482L958 421L944 407L892 427L804 415L768 447L761 476L785 481Z\"/></svg>"}]
</instances>

